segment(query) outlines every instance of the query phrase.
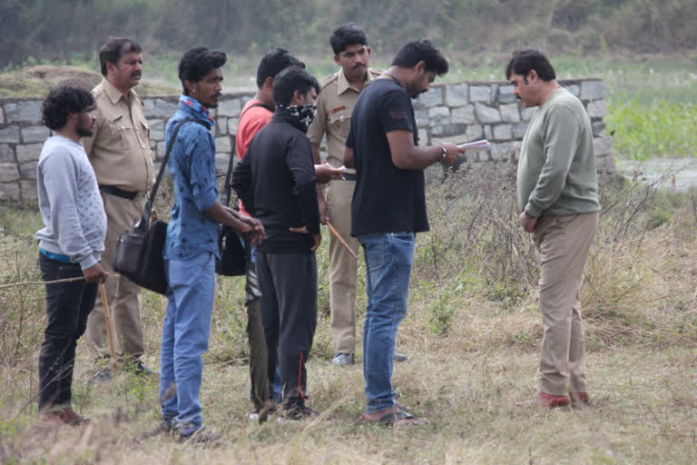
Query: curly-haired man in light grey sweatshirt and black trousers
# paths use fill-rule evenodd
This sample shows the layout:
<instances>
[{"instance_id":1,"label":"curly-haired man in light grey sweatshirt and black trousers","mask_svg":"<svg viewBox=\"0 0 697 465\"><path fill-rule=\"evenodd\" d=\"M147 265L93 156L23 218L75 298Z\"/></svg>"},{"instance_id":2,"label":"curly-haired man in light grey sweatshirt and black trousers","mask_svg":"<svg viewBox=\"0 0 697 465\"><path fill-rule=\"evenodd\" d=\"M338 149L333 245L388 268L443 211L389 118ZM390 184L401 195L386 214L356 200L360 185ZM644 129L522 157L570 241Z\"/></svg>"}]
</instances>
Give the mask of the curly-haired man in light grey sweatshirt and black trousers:
<instances>
[{"instance_id":1,"label":"curly-haired man in light grey sweatshirt and black trousers","mask_svg":"<svg viewBox=\"0 0 697 465\"><path fill-rule=\"evenodd\" d=\"M107 276L100 264L106 214L80 143L93 132L93 112L92 94L72 86L55 88L42 105L44 124L54 135L44 143L36 167L44 220L36 239L46 282L47 320L39 353L39 411L54 425L84 420L71 407L75 345L94 307L97 282ZM54 282L69 278L76 279Z\"/></svg>"}]
</instances>

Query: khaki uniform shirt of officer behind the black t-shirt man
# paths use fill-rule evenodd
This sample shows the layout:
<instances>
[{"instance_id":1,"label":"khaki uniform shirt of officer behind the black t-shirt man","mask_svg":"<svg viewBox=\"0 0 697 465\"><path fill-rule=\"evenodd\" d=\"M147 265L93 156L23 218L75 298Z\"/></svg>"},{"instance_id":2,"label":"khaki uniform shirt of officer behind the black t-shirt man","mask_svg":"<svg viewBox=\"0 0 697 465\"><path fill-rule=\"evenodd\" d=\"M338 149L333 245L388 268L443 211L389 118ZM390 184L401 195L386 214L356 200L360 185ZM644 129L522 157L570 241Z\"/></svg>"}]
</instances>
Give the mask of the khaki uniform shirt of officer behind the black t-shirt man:
<instances>
[{"instance_id":1,"label":"khaki uniform shirt of officer behind the black t-shirt man","mask_svg":"<svg viewBox=\"0 0 697 465\"><path fill-rule=\"evenodd\" d=\"M368 69L366 85L380 75ZM327 133L327 161L335 168L344 164L344 146L351 127L351 112L360 91L348 84L344 70L324 79L317 99L317 114L309 126L310 143L321 143ZM347 173L355 173L348 170Z\"/></svg>"}]
</instances>

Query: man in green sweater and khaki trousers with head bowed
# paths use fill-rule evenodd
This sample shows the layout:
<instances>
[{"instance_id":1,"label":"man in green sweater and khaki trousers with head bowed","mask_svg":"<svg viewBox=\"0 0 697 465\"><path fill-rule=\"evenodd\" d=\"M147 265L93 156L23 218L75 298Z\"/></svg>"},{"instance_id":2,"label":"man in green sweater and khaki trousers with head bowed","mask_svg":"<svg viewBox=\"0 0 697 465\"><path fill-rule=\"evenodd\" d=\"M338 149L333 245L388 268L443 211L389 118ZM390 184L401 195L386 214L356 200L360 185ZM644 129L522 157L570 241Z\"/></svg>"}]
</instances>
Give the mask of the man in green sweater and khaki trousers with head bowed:
<instances>
[{"instance_id":1,"label":"man in green sweater and khaki trousers with head bowed","mask_svg":"<svg viewBox=\"0 0 697 465\"><path fill-rule=\"evenodd\" d=\"M545 337L538 391L546 407L589 401L578 293L600 211L588 114L555 78L536 50L516 52L506 66L518 100L539 107L523 138L517 187L520 222L533 234L541 267Z\"/></svg>"}]
</instances>

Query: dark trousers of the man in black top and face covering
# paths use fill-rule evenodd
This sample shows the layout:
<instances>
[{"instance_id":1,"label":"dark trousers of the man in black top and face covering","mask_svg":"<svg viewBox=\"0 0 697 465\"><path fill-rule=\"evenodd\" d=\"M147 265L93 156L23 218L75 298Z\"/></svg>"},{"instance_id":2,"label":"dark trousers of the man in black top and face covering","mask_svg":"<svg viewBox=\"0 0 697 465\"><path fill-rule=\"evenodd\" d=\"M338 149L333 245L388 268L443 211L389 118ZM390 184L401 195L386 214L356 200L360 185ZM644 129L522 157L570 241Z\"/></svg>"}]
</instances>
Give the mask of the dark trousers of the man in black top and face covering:
<instances>
[{"instance_id":1,"label":"dark trousers of the man in black top and face covering","mask_svg":"<svg viewBox=\"0 0 697 465\"><path fill-rule=\"evenodd\" d=\"M270 390L278 362L283 405L291 407L305 401L305 362L317 327L317 261L313 252L257 251L257 272Z\"/></svg>"}]
</instances>

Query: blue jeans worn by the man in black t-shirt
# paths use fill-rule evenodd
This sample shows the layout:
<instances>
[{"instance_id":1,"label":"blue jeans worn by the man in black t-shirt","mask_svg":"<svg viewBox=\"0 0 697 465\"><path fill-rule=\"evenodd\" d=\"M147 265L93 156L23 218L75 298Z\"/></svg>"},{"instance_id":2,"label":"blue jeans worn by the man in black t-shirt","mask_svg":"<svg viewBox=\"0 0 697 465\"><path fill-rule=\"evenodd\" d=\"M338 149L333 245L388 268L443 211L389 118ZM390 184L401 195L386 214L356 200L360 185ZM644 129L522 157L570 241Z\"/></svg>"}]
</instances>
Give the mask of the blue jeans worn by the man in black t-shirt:
<instances>
[{"instance_id":1,"label":"blue jeans worn by the man in black t-shirt","mask_svg":"<svg viewBox=\"0 0 697 465\"><path fill-rule=\"evenodd\" d=\"M392 367L399 323L407 314L414 233L358 236L366 259L368 309L363 326L363 376L368 413L396 404Z\"/></svg>"}]
</instances>

